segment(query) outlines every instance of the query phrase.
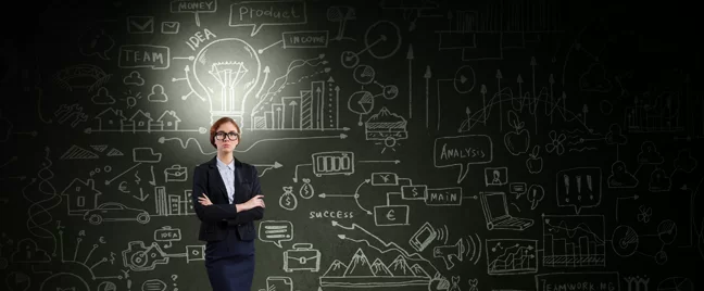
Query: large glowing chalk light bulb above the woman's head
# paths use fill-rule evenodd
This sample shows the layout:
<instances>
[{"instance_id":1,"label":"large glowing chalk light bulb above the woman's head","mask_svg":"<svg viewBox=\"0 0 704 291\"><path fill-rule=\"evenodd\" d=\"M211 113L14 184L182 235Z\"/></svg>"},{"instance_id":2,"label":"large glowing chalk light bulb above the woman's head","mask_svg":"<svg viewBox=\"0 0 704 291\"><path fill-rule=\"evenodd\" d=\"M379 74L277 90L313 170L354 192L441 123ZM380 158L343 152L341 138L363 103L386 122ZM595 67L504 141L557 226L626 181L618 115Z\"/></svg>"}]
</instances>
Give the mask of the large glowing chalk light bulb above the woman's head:
<instances>
[{"instance_id":1,"label":"large glowing chalk light bulb above the woman's head","mask_svg":"<svg viewBox=\"0 0 704 291\"><path fill-rule=\"evenodd\" d=\"M244 101L260 78L256 51L239 38L217 39L196 55L193 75L211 106L211 123L221 117L244 121Z\"/></svg>"}]
</instances>

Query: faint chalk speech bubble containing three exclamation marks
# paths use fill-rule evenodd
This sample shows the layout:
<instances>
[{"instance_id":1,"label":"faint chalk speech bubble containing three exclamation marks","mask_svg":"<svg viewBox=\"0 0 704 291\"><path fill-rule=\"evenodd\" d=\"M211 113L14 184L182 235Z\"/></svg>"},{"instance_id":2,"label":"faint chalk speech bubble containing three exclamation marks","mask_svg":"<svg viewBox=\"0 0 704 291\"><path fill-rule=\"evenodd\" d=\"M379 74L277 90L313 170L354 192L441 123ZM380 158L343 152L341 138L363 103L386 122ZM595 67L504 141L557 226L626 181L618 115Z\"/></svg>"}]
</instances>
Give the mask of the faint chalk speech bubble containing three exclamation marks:
<instances>
[{"instance_id":1,"label":"faint chalk speech bubble containing three exclamation marks","mask_svg":"<svg viewBox=\"0 0 704 291\"><path fill-rule=\"evenodd\" d=\"M595 207L602 198L602 170L599 167L575 167L557 172L555 177L557 206L582 208Z\"/></svg>"}]
</instances>

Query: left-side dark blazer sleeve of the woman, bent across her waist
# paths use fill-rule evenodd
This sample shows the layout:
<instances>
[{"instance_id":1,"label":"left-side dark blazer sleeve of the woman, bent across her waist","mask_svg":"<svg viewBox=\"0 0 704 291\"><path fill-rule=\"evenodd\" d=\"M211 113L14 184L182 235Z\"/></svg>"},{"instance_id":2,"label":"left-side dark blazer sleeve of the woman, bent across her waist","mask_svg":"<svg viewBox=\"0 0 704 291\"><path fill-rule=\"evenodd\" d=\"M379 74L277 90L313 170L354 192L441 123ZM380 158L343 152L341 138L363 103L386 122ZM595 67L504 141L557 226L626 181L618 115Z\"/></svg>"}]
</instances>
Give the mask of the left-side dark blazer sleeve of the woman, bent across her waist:
<instances>
[{"instance_id":1,"label":"left-side dark blazer sleeve of the woman, bent across her waist","mask_svg":"<svg viewBox=\"0 0 704 291\"><path fill-rule=\"evenodd\" d=\"M191 199L193 200L193 208L196 210L196 215L201 222L217 224L218 222L236 218L238 216L237 208L231 204L212 204L203 206L198 202L198 198L205 193L205 185L208 184L208 174L205 168L202 165L196 167L193 170L193 189L191 192ZM210 195L211 193L205 193Z\"/></svg>"}]
</instances>

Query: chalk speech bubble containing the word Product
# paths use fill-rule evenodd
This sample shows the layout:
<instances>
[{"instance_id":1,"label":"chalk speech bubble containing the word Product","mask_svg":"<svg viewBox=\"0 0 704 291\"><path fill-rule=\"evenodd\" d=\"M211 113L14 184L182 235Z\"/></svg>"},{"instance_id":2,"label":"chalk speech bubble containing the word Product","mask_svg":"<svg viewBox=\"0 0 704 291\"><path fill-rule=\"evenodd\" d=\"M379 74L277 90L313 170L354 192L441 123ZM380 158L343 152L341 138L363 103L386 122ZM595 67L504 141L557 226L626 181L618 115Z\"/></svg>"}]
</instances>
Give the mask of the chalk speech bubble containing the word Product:
<instances>
[{"instance_id":1,"label":"chalk speech bubble containing the word Product","mask_svg":"<svg viewBox=\"0 0 704 291\"><path fill-rule=\"evenodd\" d=\"M251 36L265 25L306 23L304 1L242 1L230 5L229 26L252 26Z\"/></svg>"}]
</instances>

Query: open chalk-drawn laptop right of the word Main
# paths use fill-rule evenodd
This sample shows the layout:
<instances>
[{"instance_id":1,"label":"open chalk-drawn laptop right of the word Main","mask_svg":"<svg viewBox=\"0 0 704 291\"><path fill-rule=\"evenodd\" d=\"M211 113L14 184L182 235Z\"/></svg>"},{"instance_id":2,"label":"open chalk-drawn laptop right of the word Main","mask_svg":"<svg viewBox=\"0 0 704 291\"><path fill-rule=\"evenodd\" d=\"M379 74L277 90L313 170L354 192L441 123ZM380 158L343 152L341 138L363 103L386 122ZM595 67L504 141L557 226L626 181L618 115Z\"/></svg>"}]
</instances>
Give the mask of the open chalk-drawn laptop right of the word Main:
<instances>
[{"instance_id":1,"label":"open chalk-drawn laptop right of the word Main","mask_svg":"<svg viewBox=\"0 0 704 291\"><path fill-rule=\"evenodd\" d=\"M487 229L524 230L533 225L530 218L513 217L508 214L504 192L480 192L481 208L487 219Z\"/></svg>"}]
</instances>

